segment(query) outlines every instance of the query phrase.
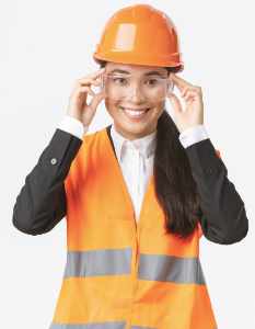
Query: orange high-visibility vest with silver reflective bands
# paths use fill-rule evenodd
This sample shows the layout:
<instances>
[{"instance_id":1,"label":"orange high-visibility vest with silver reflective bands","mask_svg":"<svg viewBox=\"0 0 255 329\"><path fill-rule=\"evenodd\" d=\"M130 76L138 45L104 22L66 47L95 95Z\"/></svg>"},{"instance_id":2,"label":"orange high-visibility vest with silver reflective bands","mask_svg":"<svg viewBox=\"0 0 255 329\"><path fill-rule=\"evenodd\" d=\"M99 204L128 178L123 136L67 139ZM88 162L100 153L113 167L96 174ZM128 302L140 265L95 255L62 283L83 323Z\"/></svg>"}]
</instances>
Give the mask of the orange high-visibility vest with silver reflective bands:
<instances>
[{"instance_id":1,"label":"orange high-visibility vest with silver reflective bands","mask_svg":"<svg viewBox=\"0 0 255 329\"><path fill-rule=\"evenodd\" d=\"M51 329L216 329L198 225L164 228L152 174L138 222L106 127L83 136L65 180L67 262Z\"/></svg>"}]
</instances>

